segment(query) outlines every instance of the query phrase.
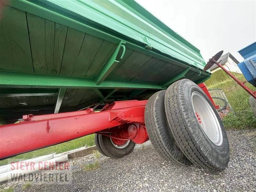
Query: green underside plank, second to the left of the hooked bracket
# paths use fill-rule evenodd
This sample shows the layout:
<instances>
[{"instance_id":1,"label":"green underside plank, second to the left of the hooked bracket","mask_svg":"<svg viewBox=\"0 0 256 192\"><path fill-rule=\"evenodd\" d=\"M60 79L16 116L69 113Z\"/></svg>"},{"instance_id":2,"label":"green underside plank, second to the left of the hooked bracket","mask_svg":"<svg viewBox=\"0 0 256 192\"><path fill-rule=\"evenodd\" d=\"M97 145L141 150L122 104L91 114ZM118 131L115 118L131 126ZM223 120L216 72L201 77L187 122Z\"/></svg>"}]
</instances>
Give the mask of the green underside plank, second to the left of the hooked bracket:
<instances>
[{"instance_id":1,"label":"green underside plank, second to the left of the hooked bracket","mask_svg":"<svg viewBox=\"0 0 256 192\"><path fill-rule=\"evenodd\" d=\"M103 39L85 34L81 50L78 54L72 76L85 76L95 58Z\"/></svg>"}]
</instances>

